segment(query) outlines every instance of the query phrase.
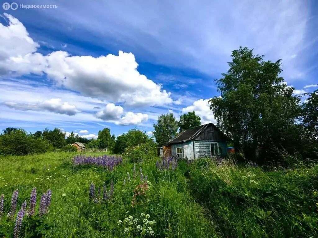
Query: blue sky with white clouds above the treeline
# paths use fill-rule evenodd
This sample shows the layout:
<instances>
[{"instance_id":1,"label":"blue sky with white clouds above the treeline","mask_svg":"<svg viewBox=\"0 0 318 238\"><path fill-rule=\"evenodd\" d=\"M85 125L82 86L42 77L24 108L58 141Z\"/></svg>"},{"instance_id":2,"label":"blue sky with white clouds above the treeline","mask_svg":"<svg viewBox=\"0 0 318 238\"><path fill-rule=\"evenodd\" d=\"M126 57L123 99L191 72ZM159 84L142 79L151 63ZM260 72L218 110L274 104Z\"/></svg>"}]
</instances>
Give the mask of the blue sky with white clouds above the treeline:
<instances>
[{"instance_id":1,"label":"blue sky with white clouds above the treeline","mask_svg":"<svg viewBox=\"0 0 318 238\"><path fill-rule=\"evenodd\" d=\"M57 8L1 9L0 129L117 136L192 110L215 122L213 80L239 46L282 59L296 93L318 83L315 1L16 2Z\"/></svg>"}]
</instances>

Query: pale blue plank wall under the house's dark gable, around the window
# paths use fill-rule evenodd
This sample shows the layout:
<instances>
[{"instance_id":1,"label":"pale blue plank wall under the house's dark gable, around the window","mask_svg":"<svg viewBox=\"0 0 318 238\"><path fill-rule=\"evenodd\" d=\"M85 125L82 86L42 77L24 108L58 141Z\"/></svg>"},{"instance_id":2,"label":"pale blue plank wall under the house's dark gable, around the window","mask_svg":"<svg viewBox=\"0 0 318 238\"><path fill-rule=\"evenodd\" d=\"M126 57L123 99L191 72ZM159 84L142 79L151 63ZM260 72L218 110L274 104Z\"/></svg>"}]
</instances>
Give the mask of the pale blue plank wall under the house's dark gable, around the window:
<instances>
[{"instance_id":1,"label":"pale blue plank wall under the house's dark gable, around the window","mask_svg":"<svg viewBox=\"0 0 318 238\"><path fill-rule=\"evenodd\" d=\"M194 141L194 153L195 158L204 158L204 157L211 157L211 145L212 142L218 142L219 149L222 150L223 155L227 155L227 144L226 142L222 141L201 141L195 140Z\"/></svg>"}]
</instances>

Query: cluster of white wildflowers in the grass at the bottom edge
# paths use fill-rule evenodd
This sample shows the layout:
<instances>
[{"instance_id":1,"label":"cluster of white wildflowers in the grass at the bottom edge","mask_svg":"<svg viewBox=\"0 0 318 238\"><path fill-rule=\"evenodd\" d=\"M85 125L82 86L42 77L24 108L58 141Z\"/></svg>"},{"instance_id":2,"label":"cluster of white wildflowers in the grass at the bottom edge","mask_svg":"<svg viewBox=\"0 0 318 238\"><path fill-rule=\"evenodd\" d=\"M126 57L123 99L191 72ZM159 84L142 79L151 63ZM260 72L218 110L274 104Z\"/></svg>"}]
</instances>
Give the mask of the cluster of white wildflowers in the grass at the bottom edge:
<instances>
[{"instance_id":1,"label":"cluster of white wildflowers in the grass at the bottom edge","mask_svg":"<svg viewBox=\"0 0 318 238\"><path fill-rule=\"evenodd\" d=\"M128 213L128 211L126 213ZM126 216L123 221L119 220L117 224L124 228L123 232L128 237L134 233L144 236L153 236L155 232L152 227L156 224L156 221L149 221L149 218L150 215L145 215L144 213L140 215L140 219L129 215L128 217Z\"/></svg>"}]
</instances>

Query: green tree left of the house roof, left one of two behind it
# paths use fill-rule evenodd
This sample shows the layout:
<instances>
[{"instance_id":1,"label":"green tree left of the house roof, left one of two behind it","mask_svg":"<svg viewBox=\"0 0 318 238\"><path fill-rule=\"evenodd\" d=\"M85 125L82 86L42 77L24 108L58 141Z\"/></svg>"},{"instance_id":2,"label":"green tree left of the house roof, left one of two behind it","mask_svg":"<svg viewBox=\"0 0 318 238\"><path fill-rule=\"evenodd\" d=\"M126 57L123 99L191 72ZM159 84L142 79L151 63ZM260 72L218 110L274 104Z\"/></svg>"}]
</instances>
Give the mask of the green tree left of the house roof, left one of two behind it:
<instances>
[{"instance_id":1,"label":"green tree left of the house roof, left one of two behind it","mask_svg":"<svg viewBox=\"0 0 318 238\"><path fill-rule=\"evenodd\" d=\"M166 115L162 114L158 117L157 124L154 124L154 137L158 145L162 146L164 143L176 136L178 130L178 122L172 113Z\"/></svg>"}]
</instances>

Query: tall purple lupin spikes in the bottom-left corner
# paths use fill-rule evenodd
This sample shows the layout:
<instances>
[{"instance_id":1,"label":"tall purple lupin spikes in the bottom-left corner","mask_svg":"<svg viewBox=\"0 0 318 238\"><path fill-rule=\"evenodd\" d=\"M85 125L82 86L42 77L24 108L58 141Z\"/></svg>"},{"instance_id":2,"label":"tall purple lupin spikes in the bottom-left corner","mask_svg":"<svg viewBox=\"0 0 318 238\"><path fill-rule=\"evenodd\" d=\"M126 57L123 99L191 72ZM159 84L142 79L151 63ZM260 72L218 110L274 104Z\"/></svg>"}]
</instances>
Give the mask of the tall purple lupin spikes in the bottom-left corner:
<instances>
[{"instance_id":1,"label":"tall purple lupin spikes in the bottom-left corner","mask_svg":"<svg viewBox=\"0 0 318 238\"><path fill-rule=\"evenodd\" d=\"M7 215L10 219L13 219L15 216L16 209L17 209L18 195L19 195L19 190L16 189L12 194L10 211ZM40 208L39 208L39 212L38 212L40 217L42 217L44 214L48 213L49 206L51 204L51 197L52 197L52 191L50 189L47 190L47 192L41 196ZM25 200L22 203L20 210L17 212L15 226L14 226L14 233L13 233L14 238L19 237L19 233L20 233L20 230L22 228L22 221L23 221L24 216L28 215L30 217L30 216L34 215L36 202L37 202L37 189L33 188L32 192L31 192L31 196L30 196L29 209L26 210L26 200ZM1 217L3 215L3 203L4 203L4 195L2 194L0 196L0 221L1 221Z\"/></svg>"}]
</instances>

